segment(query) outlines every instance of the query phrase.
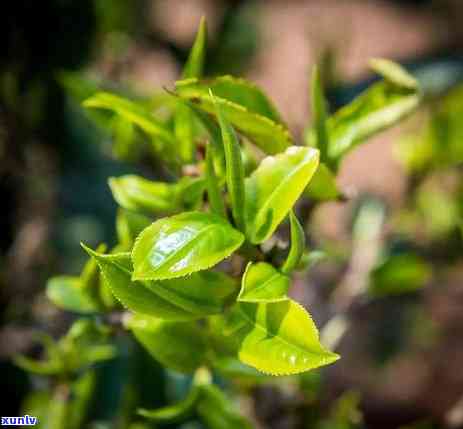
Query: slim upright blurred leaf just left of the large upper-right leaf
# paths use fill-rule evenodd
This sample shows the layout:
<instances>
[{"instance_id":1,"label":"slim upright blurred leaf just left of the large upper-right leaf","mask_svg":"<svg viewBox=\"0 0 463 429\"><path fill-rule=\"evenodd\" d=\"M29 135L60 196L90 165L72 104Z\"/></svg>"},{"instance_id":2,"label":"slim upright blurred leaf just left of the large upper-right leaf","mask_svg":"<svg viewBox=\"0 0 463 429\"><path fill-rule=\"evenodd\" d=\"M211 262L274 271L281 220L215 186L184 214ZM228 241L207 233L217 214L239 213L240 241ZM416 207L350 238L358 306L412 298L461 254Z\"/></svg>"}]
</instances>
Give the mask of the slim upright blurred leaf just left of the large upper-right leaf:
<instances>
[{"instance_id":1,"label":"slim upright blurred leaf just left of the large upper-right leaf","mask_svg":"<svg viewBox=\"0 0 463 429\"><path fill-rule=\"evenodd\" d=\"M312 115L316 135L317 148L320 151L320 161L328 160L328 131L326 129L327 102L323 93L318 67L314 67L312 73Z\"/></svg>"}]
</instances>

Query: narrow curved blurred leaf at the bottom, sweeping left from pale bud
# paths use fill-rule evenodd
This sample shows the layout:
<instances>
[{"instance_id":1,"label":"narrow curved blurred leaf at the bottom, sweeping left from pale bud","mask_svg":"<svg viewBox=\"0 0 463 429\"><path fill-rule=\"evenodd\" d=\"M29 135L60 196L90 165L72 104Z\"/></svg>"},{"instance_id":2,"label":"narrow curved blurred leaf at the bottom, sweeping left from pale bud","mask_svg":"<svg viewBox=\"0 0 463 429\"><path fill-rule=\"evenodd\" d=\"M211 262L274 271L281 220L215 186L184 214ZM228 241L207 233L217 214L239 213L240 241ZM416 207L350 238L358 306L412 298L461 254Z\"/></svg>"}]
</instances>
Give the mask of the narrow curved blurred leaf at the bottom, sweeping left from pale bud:
<instances>
[{"instance_id":1,"label":"narrow curved blurred leaf at the bottom, sweeping left from pale bud","mask_svg":"<svg viewBox=\"0 0 463 429\"><path fill-rule=\"evenodd\" d=\"M195 413L200 395L201 386L192 386L182 401L155 410L142 408L138 410L138 414L158 423L183 423Z\"/></svg>"}]
</instances>

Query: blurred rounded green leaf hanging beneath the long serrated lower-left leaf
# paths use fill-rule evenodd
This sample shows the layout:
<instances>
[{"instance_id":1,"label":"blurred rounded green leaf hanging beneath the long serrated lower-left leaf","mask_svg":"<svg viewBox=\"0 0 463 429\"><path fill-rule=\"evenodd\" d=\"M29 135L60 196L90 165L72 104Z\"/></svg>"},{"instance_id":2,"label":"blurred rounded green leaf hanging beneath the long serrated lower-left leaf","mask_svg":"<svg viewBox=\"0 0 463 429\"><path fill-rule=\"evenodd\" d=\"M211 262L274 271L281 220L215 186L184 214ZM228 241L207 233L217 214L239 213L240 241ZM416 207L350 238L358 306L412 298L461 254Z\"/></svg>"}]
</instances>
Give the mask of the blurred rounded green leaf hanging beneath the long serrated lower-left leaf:
<instances>
[{"instance_id":1,"label":"blurred rounded green leaf hanging beneath the long serrated lower-left leaf","mask_svg":"<svg viewBox=\"0 0 463 429\"><path fill-rule=\"evenodd\" d=\"M148 352L167 368L192 373L204 364L206 340L198 325L135 315L127 326Z\"/></svg>"}]
</instances>

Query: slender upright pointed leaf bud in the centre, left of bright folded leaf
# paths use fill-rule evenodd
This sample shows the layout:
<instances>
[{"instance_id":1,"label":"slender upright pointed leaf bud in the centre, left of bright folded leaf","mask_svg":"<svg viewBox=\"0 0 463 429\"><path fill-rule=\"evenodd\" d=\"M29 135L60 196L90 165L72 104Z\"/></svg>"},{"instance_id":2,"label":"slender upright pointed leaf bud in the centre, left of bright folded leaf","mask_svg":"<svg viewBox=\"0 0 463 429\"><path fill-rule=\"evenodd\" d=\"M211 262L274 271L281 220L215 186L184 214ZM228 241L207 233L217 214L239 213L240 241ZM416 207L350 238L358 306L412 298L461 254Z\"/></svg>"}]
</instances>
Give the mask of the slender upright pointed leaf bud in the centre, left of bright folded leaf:
<instances>
[{"instance_id":1,"label":"slender upright pointed leaf bud in the centre, left of bright folded leaf","mask_svg":"<svg viewBox=\"0 0 463 429\"><path fill-rule=\"evenodd\" d=\"M233 219L238 229L244 231L245 189L241 148L235 130L228 123L220 104L216 101L212 93L211 97L217 110L217 117L219 118L220 129L222 131L222 141L225 149L227 189L230 195Z\"/></svg>"}]
</instances>

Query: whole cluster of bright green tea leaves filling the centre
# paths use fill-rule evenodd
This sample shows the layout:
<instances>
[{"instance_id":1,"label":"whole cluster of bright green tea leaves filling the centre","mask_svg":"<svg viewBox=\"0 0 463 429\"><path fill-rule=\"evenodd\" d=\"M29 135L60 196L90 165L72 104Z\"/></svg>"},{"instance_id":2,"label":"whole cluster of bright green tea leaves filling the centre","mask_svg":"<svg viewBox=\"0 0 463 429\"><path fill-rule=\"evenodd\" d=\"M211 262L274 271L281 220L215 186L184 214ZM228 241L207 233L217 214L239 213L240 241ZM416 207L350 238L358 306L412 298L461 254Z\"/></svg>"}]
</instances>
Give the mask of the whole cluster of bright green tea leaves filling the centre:
<instances>
[{"instance_id":1,"label":"whole cluster of bright green tea leaves filling the centre","mask_svg":"<svg viewBox=\"0 0 463 429\"><path fill-rule=\"evenodd\" d=\"M152 160L169 180L109 179L120 206L117 245L83 245L90 259L82 274L52 278L47 294L78 314L122 312L123 328L163 366L196 373L182 403L140 410L143 416L167 422L195 414L212 428L241 428L248 423L208 371L290 375L339 358L288 296L291 275L318 255L306 250L296 203L342 198L335 177L346 154L414 111L421 94L400 66L375 60L384 79L330 115L315 70L313 124L296 145L257 86L232 76L204 78L205 54L203 21L173 91L143 100L86 91L83 105L111 130L116 153ZM275 236L286 219L290 244L281 250ZM105 348L89 350L83 361L63 353L46 363L19 362L56 375L110 357ZM63 356L66 369L58 363ZM42 364L53 370L39 371Z\"/></svg>"}]
</instances>

